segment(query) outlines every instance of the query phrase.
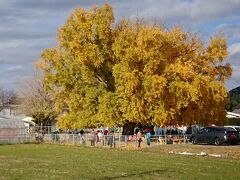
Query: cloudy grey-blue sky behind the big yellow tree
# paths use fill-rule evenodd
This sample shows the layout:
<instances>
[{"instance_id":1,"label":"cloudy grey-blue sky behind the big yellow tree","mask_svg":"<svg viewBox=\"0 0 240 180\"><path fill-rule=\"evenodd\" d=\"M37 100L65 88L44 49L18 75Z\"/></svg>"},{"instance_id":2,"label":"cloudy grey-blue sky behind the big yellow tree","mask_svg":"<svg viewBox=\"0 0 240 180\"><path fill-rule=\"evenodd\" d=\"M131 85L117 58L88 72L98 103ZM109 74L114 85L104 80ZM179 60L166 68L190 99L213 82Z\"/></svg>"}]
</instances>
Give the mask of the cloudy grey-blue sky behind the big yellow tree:
<instances>
[{"instance_id":1,"label":"cloudy grey-blue sky behind the big yellow tree","mask_svg":"<svg viewBox=\"0 0 240 180\"><path fill-rule=\"evenodd\" d=\"M56 44L59 27L77 7L110 3L116 19L144 17L181 25L204 39L228 38L233 75L228 89L240 86L240 0L0 0L0 86L17 89L32 75L43 49Z\"/></svg>"}]
</instances>

